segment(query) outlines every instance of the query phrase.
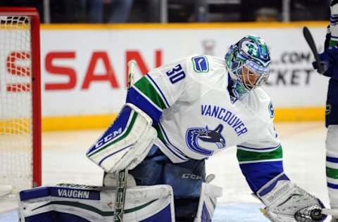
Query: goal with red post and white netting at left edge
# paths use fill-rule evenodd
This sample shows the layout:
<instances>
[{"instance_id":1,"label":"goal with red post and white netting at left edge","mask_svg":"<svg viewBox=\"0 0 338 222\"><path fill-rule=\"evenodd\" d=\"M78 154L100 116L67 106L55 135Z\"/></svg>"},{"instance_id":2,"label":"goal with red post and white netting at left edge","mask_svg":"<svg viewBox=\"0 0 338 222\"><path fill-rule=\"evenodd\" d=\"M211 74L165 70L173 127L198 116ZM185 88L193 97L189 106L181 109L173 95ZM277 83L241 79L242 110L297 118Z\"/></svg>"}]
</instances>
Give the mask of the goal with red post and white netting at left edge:
<instances>
[{"instance_id":1,"label":"goal with red post and white netting at left edge","mask_svg":"<svg viewBox=\"0 0 338 222\"><path fill-rule=\"evenodd\" d=\"M41 185L39 14L0 7L0 193Z\"/></svg>"}]
</instances>

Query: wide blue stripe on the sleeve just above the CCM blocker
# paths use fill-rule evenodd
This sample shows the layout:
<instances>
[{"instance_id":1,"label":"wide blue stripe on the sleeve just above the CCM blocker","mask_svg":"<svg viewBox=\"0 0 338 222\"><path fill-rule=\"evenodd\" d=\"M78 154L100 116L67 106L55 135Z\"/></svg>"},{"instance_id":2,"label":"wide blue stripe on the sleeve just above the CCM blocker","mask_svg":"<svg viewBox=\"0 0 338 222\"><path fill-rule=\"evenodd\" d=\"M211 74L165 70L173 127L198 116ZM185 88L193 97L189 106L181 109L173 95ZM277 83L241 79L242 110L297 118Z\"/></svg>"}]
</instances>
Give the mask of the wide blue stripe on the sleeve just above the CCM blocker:
<instances>
[{"instance_id":1,"label":"wide blue stripe on the sleeve just above the CCM blocker","mask_svg":"<svg viewBox=\"0 0 338 222\"><path fill-rule=\"evenodd\" d=\"M141 93L136 91L133 87L128 89L127 93L127 103L132 103L143 110L151 119L153 119L154 123L158 123L160 121L162 112L158 110L158 107L154 106L147 100Z\"/></svg>"}]
</instances>

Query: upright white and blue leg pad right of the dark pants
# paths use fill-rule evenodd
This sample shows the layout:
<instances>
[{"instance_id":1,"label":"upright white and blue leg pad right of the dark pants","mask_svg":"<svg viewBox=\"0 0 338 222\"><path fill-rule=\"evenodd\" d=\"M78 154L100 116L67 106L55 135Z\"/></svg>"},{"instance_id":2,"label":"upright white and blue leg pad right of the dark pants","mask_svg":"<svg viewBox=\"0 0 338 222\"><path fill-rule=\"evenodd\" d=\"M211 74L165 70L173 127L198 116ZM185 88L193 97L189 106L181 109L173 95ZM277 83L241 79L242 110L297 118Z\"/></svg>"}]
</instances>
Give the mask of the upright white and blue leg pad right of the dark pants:
<instances>
[{"instance_id":1,"label":"upright white and blue leg pad right of the dark pants","mask_svg":"<svg viewBox=\"0 0 338 222\"><path fill-rule=\"evenodd\" d=\"M199 208L197 209L197 215L194 222L211 221L213 218L213 211L215 211L217 197L221 196L222 188L209 183L202 183Z\"/></svg>"}]
</instances>

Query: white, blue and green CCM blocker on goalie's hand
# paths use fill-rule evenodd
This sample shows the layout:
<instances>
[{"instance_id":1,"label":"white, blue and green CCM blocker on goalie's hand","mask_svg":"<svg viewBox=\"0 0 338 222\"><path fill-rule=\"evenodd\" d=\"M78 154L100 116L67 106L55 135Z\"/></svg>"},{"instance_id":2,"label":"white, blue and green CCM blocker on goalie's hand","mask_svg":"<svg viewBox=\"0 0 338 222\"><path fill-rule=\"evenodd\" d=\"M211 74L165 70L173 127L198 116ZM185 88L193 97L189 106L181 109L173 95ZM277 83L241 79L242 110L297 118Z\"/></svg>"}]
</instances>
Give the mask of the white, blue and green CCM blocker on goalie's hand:
<instances>
[{"instance_id":1,"label":"white, blue and green CCM blocker on goalie's hand","mask_svg":"<svg viewBox=\"0 0 338 222\"><path fill-rule=\"evenodd\" d=\"M118 117L87 151L87 157L104 171L133 169L142 162L157 137L152 120L135 105L126 103Z\"/></svg>"}]
</instances>

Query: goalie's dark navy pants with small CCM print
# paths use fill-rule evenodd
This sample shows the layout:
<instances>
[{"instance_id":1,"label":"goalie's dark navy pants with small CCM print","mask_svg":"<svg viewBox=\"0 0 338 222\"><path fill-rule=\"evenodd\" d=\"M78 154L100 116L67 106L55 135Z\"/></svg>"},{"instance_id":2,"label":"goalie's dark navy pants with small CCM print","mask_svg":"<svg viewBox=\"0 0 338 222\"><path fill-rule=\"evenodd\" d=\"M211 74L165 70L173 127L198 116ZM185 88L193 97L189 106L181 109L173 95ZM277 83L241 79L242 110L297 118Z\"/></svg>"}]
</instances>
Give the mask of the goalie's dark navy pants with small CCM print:
<instances>
[{"instance_id":1,"label":"goalie's dark navy pants with small CCM print","mask_svg":"<svg viewBox=\"0 0 338 222\"><path fill-rule=\"evenodd\" d=\"M192 221L199 206L202 183L206 179L204 160L173 164L153 145L146 159L129 171L137 185L171 185L176 221Z\"/></svg>"}]
</instances>

